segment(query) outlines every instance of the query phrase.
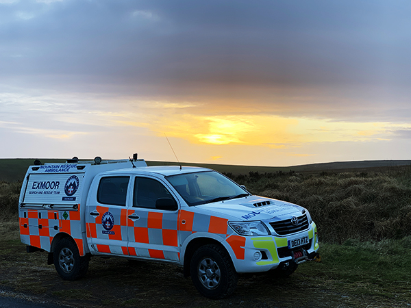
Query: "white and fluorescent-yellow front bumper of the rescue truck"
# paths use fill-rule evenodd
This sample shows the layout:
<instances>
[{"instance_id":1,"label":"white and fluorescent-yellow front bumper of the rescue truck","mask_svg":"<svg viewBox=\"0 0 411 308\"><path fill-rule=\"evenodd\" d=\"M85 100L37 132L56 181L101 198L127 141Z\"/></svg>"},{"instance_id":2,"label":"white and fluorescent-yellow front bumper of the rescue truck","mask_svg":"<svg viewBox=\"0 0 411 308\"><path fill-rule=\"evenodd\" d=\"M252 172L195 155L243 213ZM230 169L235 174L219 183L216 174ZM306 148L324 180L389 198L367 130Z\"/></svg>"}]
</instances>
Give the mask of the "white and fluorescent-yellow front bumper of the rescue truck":
<instances>
[{"instance_id":1,"label":"white and fluorescent-yellow front bumper of the rescue truck","mask_svg":"<svg viewBox=\"0 0 411 308\"><path fill-rule=\"evenodd\" d=\"M288 242L308 236L309 242L295 248L288 248ZM286 236L245 237L244 259L233 257L234 267L238 273L267 272L293 261L301 264L318 256L319 242L316 224L312 222L306 231ZM233 254L234 255L234 254Z\"/></svg>"}]
</instances>

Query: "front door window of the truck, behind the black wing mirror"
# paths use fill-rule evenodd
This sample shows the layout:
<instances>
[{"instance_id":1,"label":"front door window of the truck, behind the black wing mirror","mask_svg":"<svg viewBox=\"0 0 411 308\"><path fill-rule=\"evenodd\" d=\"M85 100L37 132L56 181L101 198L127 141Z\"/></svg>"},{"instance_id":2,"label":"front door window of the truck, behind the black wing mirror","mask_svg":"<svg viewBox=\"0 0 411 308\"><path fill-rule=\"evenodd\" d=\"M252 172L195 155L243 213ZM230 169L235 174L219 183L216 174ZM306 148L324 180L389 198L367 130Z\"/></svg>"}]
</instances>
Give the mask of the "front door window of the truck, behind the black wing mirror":
<instances>
[{"instance_id":1,"label":"front door window of the truck, behind the black wing mirror","mask_svg":"<svg viewBox=\"0 0 411 308\"><path fill-rule=\"evenodd\" d=\"M155 209L155 201L158 198L172 198L174 200L169 190L159 181L145 177L136 177L133 207Z\"/></svg>"}]
</instances>

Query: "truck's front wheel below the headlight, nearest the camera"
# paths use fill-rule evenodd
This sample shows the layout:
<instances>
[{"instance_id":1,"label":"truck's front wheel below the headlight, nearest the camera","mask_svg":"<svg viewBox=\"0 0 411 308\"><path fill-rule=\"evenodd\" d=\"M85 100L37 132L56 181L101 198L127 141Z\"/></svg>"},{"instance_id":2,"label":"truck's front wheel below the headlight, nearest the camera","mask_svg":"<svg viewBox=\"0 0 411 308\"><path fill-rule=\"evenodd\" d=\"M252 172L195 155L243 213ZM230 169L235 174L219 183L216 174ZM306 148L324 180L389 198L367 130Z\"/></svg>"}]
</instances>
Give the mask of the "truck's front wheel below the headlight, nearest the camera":
<instances>
[{"instance_id":1,"label":"truck's front wheel below the headlight, nearest the camera","mask_svg":"<svg viewBox=\"0 0 411 308\"><path fill-rule=\"evenodd\" d=\"M216 244L201 246L192 255L190 276L197 290L208 298L225 298L236 290L238 274L225 249Z\"/></svg>"}]
</instances>

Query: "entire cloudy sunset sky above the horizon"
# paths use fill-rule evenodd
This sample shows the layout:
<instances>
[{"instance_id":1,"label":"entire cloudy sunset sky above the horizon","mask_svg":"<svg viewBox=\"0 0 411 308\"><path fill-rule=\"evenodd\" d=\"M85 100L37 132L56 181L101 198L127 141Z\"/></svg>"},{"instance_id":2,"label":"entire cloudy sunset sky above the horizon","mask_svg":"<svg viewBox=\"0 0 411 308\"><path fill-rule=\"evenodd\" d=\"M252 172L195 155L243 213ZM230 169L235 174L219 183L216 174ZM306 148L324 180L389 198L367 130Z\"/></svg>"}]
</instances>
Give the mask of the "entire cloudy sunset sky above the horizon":
<instances>
[{"instance_id":1,"label":"entire cloudy sunset sky above the horizon","mask_svg":"<svg viewBox=\"0 0 411 308\"><path fill-rule=\"evenodd\" d=\"M411 2L0 0L0 158L410 159Z\"/></svg>"}]
</instances>

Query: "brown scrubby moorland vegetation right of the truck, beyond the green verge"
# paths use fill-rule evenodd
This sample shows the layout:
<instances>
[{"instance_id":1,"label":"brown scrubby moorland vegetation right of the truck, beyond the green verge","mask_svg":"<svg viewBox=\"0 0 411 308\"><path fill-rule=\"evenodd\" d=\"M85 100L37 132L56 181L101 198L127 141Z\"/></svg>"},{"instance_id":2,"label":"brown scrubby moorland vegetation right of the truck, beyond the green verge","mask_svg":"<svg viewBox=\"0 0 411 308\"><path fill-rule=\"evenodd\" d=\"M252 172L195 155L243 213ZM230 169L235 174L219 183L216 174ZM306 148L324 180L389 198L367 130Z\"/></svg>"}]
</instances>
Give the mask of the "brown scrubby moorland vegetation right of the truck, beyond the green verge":
<instances>
[{"instance_id":1,"label":"brown scrubby moorland vegetation right of the truck, beyond the green verge","mask_svg":"<svg viewBox=\"0 0 411 308\"><path fill-rule=\"evenodd\" d=\"M233 176L253 194L306 207L324 242L401 239L411 235L411 172Z\"/></svg>"}]
</instances>

